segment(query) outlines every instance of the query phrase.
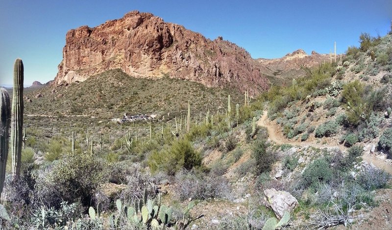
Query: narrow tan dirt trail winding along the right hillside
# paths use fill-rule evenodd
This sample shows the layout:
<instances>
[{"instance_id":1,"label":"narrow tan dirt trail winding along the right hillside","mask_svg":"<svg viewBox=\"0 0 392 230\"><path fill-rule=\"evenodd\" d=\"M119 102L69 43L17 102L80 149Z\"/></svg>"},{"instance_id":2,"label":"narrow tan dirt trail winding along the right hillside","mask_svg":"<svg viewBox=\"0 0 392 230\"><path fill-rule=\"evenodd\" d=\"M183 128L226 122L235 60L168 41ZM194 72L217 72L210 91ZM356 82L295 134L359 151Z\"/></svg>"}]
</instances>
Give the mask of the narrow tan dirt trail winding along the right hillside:
<instances>
[{"instance_id":1,"label":"narrow tan dirt trail winding along the right hillside","mask_svg":"<svg viewBox=\"0 0 392 230\"><path fill-rule=\"evenodd\" d=\"M259 121L257 121L257 125L261 127L266 127L268 129L268 134L269 138L271 141L281 145L281 144L290 144L294 146L311 146L315 147L318 149L323 149L323 148L328 148L328 149L340 149L341 151L345 151L346 148L342 145L322 145L319 143L315 142L310 142L310 141L294 141L294 140L288 140L286 137L284 137L282 134L280 134L277 130L279 130L278 125L272 125L268 121L267 117L267 111L264 111L263 116L260 118ZM374 166L380 169L384 169L386 172L392 174L392 167L389 165L385 160L383 159L378 159L375 156L365 153L362 155L362 159L367 161L368 163L372 163Z\"/></svg>"}]
</instances>

